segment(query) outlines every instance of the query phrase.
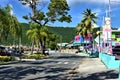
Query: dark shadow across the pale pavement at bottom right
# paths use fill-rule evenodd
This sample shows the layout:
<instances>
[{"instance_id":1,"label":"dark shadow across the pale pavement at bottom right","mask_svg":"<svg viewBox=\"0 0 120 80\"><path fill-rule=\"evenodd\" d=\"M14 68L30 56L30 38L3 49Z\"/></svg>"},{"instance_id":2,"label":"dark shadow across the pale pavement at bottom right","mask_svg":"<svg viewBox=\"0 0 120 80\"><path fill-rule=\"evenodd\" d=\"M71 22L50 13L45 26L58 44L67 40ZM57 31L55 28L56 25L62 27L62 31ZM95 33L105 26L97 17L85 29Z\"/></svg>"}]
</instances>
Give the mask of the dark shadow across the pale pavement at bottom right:
<instances>
[{"instance_id":1,"label":"dark shadow across the pale pavement at bottom right","mask_svg":"<svg viewBox=\"0 0 120 80\"><path fill-rule=\"evenodd\" d=\"M86 76L77 74L77 75L73 75L72 78L73 80L109 80L109 79L114 80L114 79L118 79L118 72L115 72L115 70L110 70L105 72L88 74Z\"/></svg>"}]
</instances>

